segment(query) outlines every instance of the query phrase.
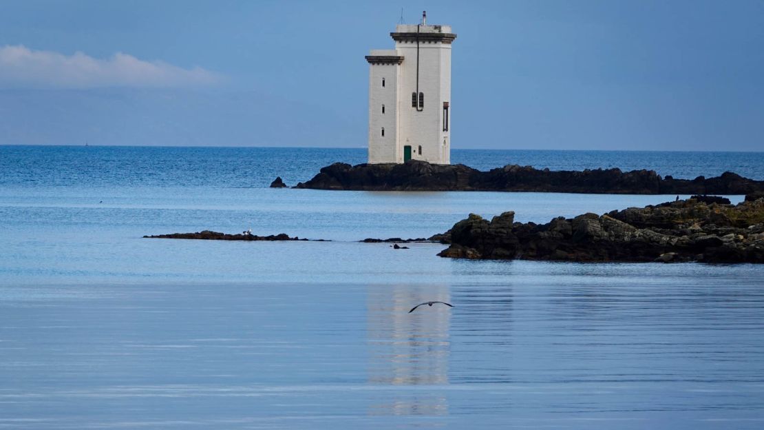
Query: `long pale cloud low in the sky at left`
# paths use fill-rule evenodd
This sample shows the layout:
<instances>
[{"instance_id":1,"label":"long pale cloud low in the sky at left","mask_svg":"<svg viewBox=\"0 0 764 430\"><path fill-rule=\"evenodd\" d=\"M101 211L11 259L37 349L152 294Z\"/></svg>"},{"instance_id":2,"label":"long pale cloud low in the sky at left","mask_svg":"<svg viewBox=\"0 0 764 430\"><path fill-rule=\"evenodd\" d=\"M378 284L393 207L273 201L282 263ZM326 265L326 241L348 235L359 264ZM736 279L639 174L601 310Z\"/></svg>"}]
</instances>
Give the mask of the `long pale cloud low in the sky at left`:
<instances>
[{"instance_id":1,"label":"long pale cloud low in the sky at left","mask_svg":"<svg viewBox=\"0 0 764 430\"><path fill-rule=\"evenodd\" d=\"M201 67L184 69L162 61L139 60L118 52L111 58L93 58L82 52L66 56L23 45L0 47L0 86L198 86L219 78Z\"/></svg>"}]
</instances>

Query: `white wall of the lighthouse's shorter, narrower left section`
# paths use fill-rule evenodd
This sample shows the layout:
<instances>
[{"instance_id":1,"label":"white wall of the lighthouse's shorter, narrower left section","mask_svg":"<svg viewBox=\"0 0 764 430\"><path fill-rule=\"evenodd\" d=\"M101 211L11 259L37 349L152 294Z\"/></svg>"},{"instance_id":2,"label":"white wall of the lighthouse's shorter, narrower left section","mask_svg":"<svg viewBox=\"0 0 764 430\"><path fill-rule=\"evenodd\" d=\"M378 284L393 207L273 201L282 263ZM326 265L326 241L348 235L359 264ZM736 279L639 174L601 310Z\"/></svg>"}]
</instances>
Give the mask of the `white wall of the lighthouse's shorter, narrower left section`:
<instances>
[{"instance_id":1,"label":"white wall of the lighthouse's shorter, narrower left section","mask_svg":"<svg viewBox=\"0 0 764 430\"><path fill-rule=\"evenodd\" d=\"M393 163L398 159L396 109L398 68L397 64L369 64L369 163ZM383 79L385 86L382 86ZM382 113L383 105L384 113ZM402 159L403 155L400 157Z\"/></svg>"}]
</instances>

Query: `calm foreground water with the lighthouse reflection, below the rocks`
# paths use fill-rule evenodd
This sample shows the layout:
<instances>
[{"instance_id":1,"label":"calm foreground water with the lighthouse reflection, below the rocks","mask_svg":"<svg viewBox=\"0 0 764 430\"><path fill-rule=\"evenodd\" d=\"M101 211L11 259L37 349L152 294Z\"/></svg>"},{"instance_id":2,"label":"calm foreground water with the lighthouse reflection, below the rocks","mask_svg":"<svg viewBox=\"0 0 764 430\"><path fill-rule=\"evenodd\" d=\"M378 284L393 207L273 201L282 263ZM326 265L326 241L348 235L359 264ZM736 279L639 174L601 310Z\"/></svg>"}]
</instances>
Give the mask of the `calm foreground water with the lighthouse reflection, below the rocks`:
<instances>
[{"instance_id":1,"label":"calm foreground water with the lighthouse reflection, below the rocks","mask_svg":"<svg viewBox=\"0 0 764 430\"><path fill-rule=\"evenodd\" d=\"M0 425L761 428L761 270L454 265L440 284L5 288ZM456 307L407 313L432 299Z\"/></svg>"}]
</instances>

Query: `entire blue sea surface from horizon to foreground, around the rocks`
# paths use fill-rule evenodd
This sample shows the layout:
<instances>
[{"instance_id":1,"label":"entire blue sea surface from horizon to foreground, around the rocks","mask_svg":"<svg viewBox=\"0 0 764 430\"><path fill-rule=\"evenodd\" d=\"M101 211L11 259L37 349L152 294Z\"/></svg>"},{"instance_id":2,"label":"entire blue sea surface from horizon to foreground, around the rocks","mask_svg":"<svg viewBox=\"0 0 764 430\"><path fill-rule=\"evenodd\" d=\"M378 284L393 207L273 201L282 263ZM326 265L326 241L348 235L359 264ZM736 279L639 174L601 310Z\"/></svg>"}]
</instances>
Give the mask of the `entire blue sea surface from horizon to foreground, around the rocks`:
<instances>
[{"instance_id":1,"label":"entire blue sea surface from horizon to foreground, around the rocks","mask_svg":"<svg viewBox=\"0 0 764 430\"><path fill-rule=\"evenodd\" d=\"M675 196L267 187L364 158L0 146L0 428L764 428L759 265L462 261L358 242L468 213L545 223ZM452 161L764 180L764 153ZM329 241L142 238L250 228ZM455 308L409 313L429 300Z\"/></svg>"}]
</instances>

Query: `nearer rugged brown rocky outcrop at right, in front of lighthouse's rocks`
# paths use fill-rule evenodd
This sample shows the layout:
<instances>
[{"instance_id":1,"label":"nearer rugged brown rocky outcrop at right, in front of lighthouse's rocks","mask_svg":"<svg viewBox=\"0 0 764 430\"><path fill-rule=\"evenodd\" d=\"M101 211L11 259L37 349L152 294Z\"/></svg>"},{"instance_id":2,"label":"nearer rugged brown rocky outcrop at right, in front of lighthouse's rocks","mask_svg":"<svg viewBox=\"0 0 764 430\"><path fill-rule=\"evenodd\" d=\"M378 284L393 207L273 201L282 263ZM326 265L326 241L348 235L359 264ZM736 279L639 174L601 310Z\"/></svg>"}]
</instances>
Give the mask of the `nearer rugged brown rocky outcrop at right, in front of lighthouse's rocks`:
<instances>
[{"instance_id":1,"label":"nearer rugged brown rocky outcrop at right, in front of lighthouse's rocks","mask_svg":"<svg viewBox=\"0 0 764 430\"><path fill-rule=\"evenodd\" d=\"M584 213L549 223L516 223L514 212L492 220L470 214L450 231L439 256L628 262L764 263L764 199L736 206L696 199Z\"/></svg>"}]
</instances>

